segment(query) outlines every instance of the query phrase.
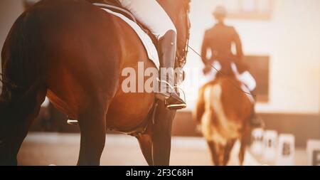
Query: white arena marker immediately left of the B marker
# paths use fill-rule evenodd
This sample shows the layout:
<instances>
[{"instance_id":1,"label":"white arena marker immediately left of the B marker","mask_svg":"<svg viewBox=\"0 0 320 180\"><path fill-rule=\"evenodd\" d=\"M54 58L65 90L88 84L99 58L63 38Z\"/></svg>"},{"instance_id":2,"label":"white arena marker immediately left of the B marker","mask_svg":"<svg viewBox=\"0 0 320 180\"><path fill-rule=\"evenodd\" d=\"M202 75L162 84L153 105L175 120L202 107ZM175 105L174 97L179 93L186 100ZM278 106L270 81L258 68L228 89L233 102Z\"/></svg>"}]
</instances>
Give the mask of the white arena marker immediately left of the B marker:
<instances>
[{"instance_id":1,"label":"white arena marker immediately left of the B marker","mask_svg":"<svg viewBox=\"0 0 320 180\"><path fill-rule=\"evenodd\" d=\"M276 131L265 131L264 134L264 151L263 158L266 162L273 163L276 159L277 154L277 132Z\"/></svg>"}]
</instances>

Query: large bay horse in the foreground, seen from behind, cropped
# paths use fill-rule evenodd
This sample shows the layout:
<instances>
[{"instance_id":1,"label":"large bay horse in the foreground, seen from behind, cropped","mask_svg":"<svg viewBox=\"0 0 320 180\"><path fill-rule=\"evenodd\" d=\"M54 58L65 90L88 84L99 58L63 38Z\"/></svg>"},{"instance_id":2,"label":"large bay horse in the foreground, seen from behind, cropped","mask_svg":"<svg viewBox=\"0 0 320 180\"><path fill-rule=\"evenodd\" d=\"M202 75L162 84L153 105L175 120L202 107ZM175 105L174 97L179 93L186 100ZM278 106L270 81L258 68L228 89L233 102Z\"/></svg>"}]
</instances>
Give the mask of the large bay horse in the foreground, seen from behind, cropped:
<instances>
[{"instance_id":1,"label":"large bay horse in the foreground, seen from behind, cropped","mask_svg":"<svg viewBox=\"0 0 320 180\"><path fill-rule=\"evenodd\" d=\"M190 1L158 2L177 28L177 57L185 59ZM18 17L1 58L0 165L18 164L18 150L46 96L79 122L78 165L100 164L107 129L137 137L149 165L169 165L176 111L156 103L154 93L122 91L124 68L156 66L118 17L85 0L40 1Z\"/></svg>"}]
</instances>

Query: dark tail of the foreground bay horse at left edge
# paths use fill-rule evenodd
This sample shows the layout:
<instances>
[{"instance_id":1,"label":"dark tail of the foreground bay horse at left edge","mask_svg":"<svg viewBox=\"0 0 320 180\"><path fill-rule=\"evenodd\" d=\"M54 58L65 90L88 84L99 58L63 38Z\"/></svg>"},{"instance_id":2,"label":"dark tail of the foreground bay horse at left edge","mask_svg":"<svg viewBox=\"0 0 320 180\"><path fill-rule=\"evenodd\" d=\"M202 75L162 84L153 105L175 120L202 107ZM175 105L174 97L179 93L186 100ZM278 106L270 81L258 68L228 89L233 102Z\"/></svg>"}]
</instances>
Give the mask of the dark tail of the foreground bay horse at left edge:
<instances>
[{"instance_id":1,"label":"dark tail of the foreground bay horse at left edge","mask_svg":"<svg viewBox=\"0 0 320 180\"><path fill-rule=\"evenodd\" d=\"M41 51L38 41L41 35L36 28L37 21L30 18L28 11L18 17L2 48L1 101L19 97L31 87L36 77L43 75L43 61L39 60L40 53L35 53Z\"/></svg>"}]
</instances>

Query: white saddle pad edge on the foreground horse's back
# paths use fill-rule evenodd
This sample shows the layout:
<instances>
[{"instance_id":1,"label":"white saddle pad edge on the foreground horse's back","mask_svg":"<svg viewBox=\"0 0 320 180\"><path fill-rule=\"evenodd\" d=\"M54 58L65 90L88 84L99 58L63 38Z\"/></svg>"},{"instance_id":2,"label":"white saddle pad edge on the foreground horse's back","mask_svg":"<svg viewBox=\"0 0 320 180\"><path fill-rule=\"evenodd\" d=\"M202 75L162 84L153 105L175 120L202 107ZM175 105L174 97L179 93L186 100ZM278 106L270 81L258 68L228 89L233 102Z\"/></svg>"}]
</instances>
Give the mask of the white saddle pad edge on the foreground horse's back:
<instances>
[{"instance_id":1,"label":"white saddle pad edge on the foreground horse's back","mask_svg":"<svg viewBox=\"0 0 320 180\"><path fill-rule=\"evenodd\" d=\"M110 9L103 10L107 11L107 13L109 14L121 18L124 22L126 22L129 26L132 27L132 29L137 33L137 36L139 36L140 40L144 44L144 48L146 49L146 53L148 53L149 59L154 63L154 65L156 65L156 68L159 69L159 55L158 51L156 50L156 46L154 46L154 43L152 43L151 38L142 30L142 28L140 28L140 26L138 26L137 23L135 23L134 21L130 20L122 14L111 11Z\"/></svg>"}]
</instances>

